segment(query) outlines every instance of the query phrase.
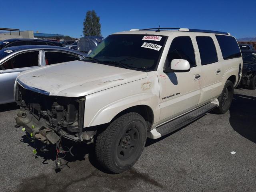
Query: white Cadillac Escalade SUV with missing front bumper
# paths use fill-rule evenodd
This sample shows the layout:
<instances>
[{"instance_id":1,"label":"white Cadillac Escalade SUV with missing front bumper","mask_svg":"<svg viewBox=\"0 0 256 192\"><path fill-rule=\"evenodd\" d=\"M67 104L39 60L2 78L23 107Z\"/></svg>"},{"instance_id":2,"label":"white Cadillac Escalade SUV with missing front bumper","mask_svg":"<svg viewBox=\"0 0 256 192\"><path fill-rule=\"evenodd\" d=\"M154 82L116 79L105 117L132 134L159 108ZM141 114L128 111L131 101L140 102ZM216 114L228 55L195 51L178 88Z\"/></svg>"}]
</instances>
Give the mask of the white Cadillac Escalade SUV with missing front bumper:
<instances>
[{"instance_id":1,"label":"white Cadillac Escalade SUV with missing front bumper","mask_svg":"<svg viewBox=\"0 0 256 192\"><path fill-rule=\"evenodd\" d=\"M138 160L147 137L160 138L213 109L225 113L242 74L236 39L169 29L118 32L84 60L20 73L17 125L56 144L58 153L63 139L94 142L100 164L120 173Z\"/></svg>"}]
</instances>

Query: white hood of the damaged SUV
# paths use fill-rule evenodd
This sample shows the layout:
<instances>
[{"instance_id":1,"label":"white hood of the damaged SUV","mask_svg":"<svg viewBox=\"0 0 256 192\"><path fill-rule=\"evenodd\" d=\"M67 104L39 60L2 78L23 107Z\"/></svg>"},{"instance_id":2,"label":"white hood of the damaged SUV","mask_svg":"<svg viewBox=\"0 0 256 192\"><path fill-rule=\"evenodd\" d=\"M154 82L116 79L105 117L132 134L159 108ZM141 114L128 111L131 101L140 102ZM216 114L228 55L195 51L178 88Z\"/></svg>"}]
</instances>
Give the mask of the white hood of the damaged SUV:
<instances>
[{"instance_id":1,"label":"white hood of the damaged SUV","mask_svg":"<svg viewBox=\"0 0 256 192\"><path fill-rule=\"evenodd\" d=\"M47 95L80 97L147 77L147 72L72 61L20 73L24 88Z\"/></svg>"}]
</instances>

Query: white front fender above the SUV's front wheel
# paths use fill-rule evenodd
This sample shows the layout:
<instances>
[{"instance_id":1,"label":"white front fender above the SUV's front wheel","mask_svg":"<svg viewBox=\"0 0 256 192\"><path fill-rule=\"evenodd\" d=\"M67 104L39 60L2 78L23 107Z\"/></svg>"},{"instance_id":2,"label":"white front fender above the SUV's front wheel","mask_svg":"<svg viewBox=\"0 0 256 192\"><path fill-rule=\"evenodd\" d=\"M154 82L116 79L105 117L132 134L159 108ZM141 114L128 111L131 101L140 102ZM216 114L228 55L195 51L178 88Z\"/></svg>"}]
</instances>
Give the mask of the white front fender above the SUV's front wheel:
<instances>
[{"instance_id":1,"label":"white front fender above the SUV's front wheel","mask_svg":"<svg viewBox=\"0 0 256 192\"><path fill-rule=\"evenodd\" d=\"M84 127L108 123L123 110L138 105L149 106L154 114L153 123L158 122L160 106L156 74L86 96Z\"/></svg>"}]
</instances>

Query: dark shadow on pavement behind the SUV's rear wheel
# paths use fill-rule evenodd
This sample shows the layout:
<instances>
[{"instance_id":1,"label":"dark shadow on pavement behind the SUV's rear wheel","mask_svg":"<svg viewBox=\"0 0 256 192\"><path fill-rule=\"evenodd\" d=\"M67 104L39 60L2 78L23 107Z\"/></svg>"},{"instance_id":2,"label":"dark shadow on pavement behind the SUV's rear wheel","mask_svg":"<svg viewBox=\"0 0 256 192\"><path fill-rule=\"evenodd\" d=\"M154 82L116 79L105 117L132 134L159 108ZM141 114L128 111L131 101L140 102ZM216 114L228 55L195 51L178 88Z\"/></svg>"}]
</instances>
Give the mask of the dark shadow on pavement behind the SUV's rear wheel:
<instances>
[{"instance_id":1,"label":"dark shadow on pavement behind the SUV's rear wheel","mask_svg":"<svg viewBox=\"0 0 256 192\"><path fill-rule=\"evenodd\" d=\"M229 121L236 132L256 143L256 97L234 94Z\"/></svg>"}]
</instances>

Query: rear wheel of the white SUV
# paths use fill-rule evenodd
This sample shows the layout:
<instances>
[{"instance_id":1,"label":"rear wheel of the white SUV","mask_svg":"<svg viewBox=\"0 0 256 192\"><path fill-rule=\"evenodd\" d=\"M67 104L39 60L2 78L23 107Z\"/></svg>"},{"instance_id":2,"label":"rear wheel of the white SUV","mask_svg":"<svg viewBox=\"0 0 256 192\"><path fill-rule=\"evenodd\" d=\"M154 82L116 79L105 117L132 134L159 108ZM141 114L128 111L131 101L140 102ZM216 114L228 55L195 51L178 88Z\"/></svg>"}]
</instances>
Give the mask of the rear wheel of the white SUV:
<instances>
[{"instance_id":1,"label":"rear wheel of the white SUV","mask_svg":"<svg viewBox=\"0 0 256 192\"><path fill-rule=\"evenodd\" d=\"M230 108L234 94L234 85L230 80L227 80L224 88L218 97L220 105L214 110L218 114L224 114Z\"/></svg>"}]
</instances>

